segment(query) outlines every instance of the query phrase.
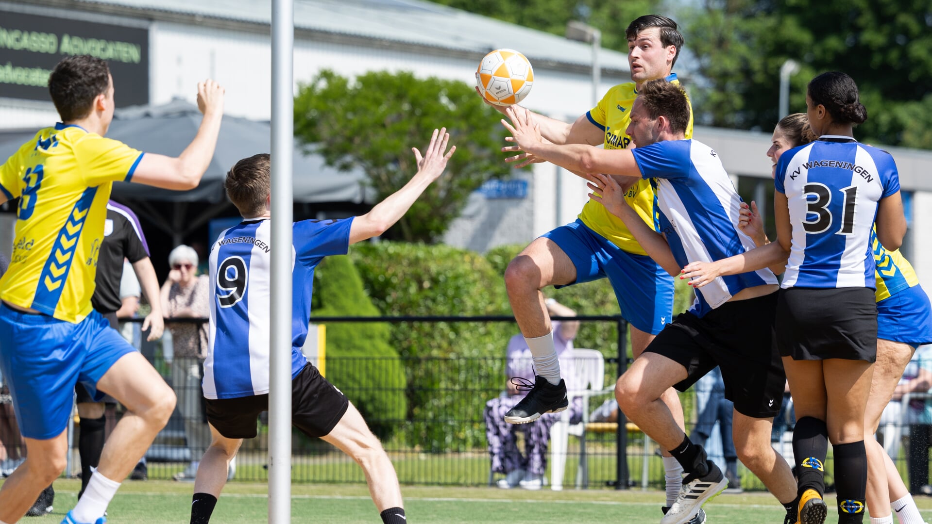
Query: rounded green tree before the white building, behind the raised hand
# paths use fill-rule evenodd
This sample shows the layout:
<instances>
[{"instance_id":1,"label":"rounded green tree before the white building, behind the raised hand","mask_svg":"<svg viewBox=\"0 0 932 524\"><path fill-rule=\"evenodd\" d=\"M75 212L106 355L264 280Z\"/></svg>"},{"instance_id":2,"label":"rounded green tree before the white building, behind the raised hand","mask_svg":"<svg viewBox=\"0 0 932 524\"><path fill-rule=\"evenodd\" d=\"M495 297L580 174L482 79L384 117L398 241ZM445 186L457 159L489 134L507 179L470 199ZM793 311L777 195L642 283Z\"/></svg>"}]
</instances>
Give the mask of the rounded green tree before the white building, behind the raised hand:
<instances>
[{"instance_id":1,"label":"rounded green tree before the white building, behind the raised hand","mask_svg":"<svg viewBox=\"0 0 932 524\"><path fill-rule=\"evenodd\" d=\"M457 153L445 175L388 234L409 242L432 242L482 182L508 173L499 120L472 86L407 72L370 72L350 80L323 70L295 97L295 137L329 166L362 168L378 200L414 176L411 147L423 150L433 128L447 128Z\"/></svg>"}]
</instances>

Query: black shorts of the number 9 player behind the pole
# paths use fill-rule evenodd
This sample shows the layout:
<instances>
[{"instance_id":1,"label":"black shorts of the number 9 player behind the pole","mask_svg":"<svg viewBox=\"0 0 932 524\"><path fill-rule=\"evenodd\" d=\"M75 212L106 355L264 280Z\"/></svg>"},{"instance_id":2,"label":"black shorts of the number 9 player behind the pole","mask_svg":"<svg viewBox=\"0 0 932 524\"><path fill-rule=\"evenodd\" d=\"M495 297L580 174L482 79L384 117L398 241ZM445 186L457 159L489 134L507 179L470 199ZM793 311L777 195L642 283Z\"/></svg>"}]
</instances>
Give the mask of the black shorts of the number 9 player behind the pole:
<instances>
[{"instance_id":1,"label":"black shorts of the number 9 player behind the pole","mask_svg":"<svg viewBox=\"0 0 932 524\"><path fill-rule=\"evenodd\" d=\"M254 438L259 413L268 410L268 394L205 400L207 422L226 438ZM329 435L347 408L343 392L311 364L292 381L292 424L308 437Z\"/></svg>"}]
</instances>

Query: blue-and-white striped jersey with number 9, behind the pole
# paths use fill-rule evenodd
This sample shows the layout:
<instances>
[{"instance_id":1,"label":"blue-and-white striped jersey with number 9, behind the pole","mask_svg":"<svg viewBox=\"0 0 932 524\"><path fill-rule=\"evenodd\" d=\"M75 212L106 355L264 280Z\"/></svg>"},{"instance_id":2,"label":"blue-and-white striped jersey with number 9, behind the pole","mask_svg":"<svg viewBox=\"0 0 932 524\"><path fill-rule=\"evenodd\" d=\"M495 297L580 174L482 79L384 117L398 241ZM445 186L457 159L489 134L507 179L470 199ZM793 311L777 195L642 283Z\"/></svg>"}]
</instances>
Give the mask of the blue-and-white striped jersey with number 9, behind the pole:
<instances>
[{"instance_id":1,"label":"blue-and-white striped jersey with number 9, behind the pole","mask_svg":"<svg viewBox=\"0 0 932 524\"><path fill-rule=\"evenodd\" d=\"M349 249L352 219L295 222L292 246L292 378L308 360L314 268L327 255ZM268 393L268 328L271 298L271 224L240 222L220 234L211 248L211 322L204 396L237 398Z\"/></svg>"}]
</instances>

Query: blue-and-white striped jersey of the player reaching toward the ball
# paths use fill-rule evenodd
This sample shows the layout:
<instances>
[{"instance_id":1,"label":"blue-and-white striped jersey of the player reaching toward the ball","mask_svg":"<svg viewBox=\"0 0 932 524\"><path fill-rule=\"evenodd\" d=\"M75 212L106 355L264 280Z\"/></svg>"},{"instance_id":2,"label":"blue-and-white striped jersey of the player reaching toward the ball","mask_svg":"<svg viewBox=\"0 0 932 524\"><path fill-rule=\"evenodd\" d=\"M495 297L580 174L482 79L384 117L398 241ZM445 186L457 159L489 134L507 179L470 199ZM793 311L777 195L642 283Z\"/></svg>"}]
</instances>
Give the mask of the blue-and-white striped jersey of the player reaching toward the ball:
<instances>
[{"instance_id":1,"label":"blue-and-white striped jersey of the player reaching toward the ball","mask_svg":"<svg viewBox=\"0 0 932 524\"><path fill-rule=\"evenodd\" d=\"M645 179L656 186L659 230L680 267L714 262L754 249L738 229L741 197L719 155L700 141L658 141L632 151ZM776 284L769 269L720 276L701 289L690 311L705 316L742 289Z\"/></svg>"}]
</instances>

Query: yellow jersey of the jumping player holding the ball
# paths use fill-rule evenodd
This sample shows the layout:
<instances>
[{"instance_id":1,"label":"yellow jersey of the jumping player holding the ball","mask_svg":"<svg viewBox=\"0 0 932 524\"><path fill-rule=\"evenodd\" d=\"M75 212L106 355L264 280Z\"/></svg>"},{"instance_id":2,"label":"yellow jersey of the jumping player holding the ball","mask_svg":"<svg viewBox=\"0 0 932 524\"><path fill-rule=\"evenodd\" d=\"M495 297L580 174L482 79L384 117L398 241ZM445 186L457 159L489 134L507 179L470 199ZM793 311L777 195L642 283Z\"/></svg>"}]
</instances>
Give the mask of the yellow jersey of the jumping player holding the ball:
<instances>
[{"instance_id":1,"label":"yellow jersey of the jumping player holding the ball","mask_svg":"<svg viewBox=\"0 0 932 524\"><path fill-rule=\"evenodd\" d=\"M667 76L666 80L678 83L677 74ZM631 106L636 98L637 88L634 82L619 84L610 88L598 105L586 114L596 128L605 131L605 149L627 149L631 144L631 137L625 134L625 131L631 123ZM692 106L690 107L690 123L686 127L686 138L692 139ZM644 222L654 229L657 228L657 211L654 209L655 197L651 181L638 180L624 194L624 198ZM635 236L628 231L624 222L598 202L594 200L586 202L579 218L589 229L604 236L618 248L637 255L647 255L647 252L635 240Z\"/></svg>"}]
</instances>

